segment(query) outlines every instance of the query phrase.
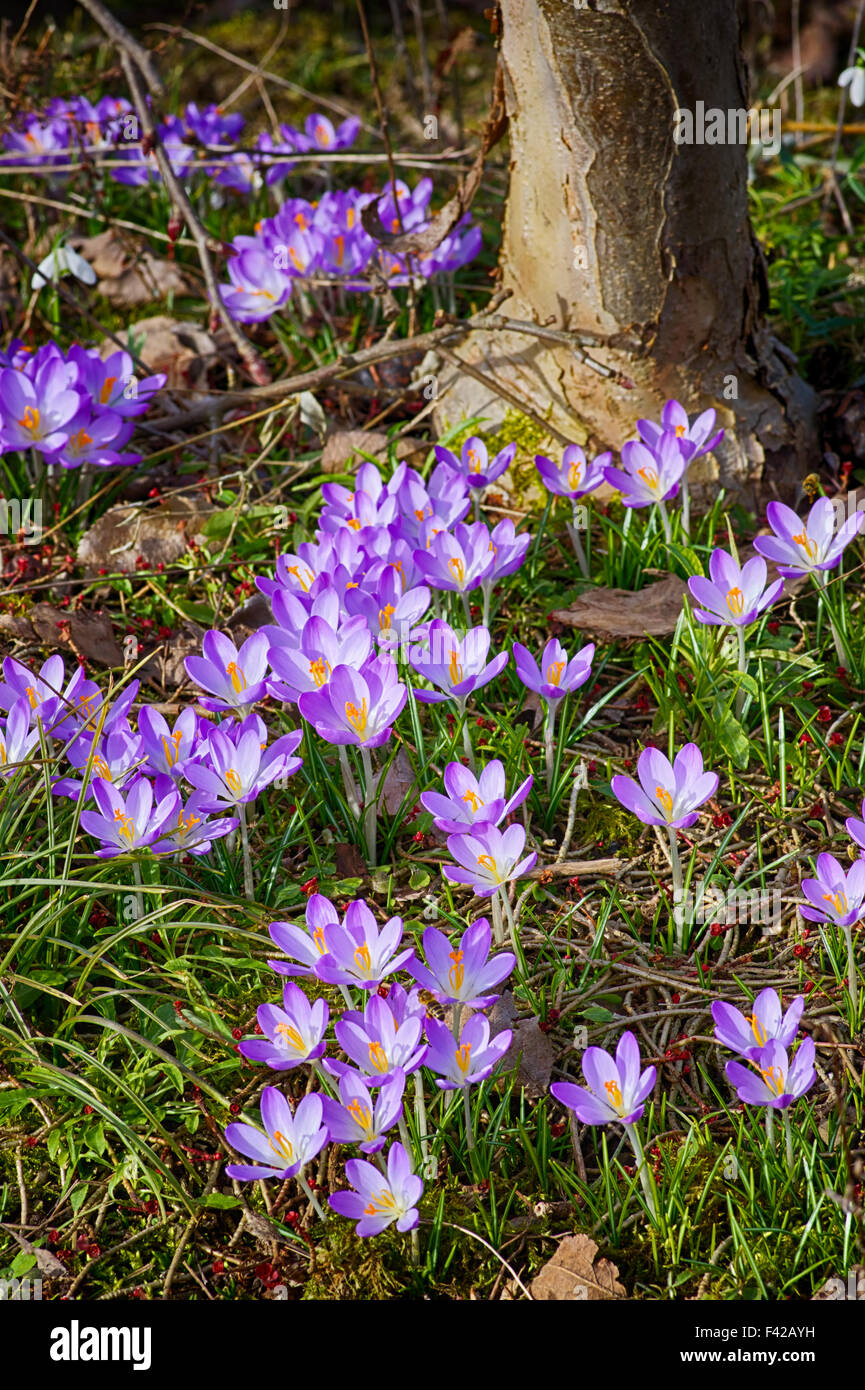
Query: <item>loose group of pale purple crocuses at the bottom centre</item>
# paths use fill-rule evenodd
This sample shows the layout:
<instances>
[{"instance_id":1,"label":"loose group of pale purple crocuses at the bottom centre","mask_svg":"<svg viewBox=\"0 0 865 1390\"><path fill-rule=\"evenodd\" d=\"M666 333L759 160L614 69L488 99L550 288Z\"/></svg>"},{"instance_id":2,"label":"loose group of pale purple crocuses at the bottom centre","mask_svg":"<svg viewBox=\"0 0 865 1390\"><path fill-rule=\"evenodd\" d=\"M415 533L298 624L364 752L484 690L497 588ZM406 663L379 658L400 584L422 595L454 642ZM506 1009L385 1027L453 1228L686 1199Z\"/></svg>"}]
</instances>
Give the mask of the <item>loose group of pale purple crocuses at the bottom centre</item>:
<instances>
[{"instance_id":1,"label":"loose group of pale purple crocuses at the bottom centre","mask_svg":"<svg viewBox=\"0 0 865 1390\"><path fill-rule=\"evenodd\" d=\"M341 990L346 1009L332 1031L342 1056L325 1055L327 999L318 997L310 1002L289 979L282 1008L263 1004L257 1011L261 1036L239 1042L238 1051L274 1072L309 1066L321 1090L306 1094L292 1109L278 1087L264 1087L264 1133L245 1123L225 1130L229 1144L253 1163L229 1163L225 1172L246 1182L298 1177L324 1219L303 1169L328 1141L352 1144L374 1163L349 1159L345 1173L352 1190L334 1193L328 1198L332 1209L356 1220L359 1236L375 1236L392 1222L401 1232L413 1230L423 1179L414 1173L405 1115L407 1079L413 1080L419 1150L424 1172L431 1175L435 1159L430 1155L421 1068L432 1074L439 1091L462 1093L466 1138L473 1148L469 1090L491 1076L512 1038L510 1030L491 1037L484 1011L495 1004L516 956L490 955L490 923L481 917L456 942L428 927L421 959L406 942L401 917L391 917L380 927L359 898L348 905L341 920L334 903L321 894L310 897L305 926L273 922L268 930L288 956L270 960L273 970ZM394 980L399 970L414 981L409 990ZM427 1012L421 990L449 1006L449 1027ZM463 1013L469 1015L464 1023ZM399 1140L394 1138L385 1155L394 1130Z\"/></svg>"}]
</instances>

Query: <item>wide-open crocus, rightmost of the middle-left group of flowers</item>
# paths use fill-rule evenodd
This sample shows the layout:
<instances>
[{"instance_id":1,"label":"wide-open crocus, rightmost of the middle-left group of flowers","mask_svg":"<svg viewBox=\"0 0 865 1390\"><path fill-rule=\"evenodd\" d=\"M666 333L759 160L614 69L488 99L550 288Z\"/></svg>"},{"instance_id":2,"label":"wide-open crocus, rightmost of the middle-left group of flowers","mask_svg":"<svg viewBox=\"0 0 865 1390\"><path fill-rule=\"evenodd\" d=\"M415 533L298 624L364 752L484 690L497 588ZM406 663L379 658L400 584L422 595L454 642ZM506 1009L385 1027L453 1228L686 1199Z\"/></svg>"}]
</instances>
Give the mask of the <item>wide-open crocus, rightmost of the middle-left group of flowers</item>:
<instances>
[{"instance_id":1,"label":"wide-open crocus, rightmost of the middle-left group of flowers","mask_svg":"<svg viewBox=\"0 0 865 1390\"><path fill-rule=\"evenodd\" d=\"M292 758L302 738L296 728L264 748L260 720L249 714L242 724L214 728L200 751L202 762L184 763L182 773L206 794L207 810L229 810L254 801L277 777L292 777L302 766L300 758Z\"/></svg>"}]
</instances>

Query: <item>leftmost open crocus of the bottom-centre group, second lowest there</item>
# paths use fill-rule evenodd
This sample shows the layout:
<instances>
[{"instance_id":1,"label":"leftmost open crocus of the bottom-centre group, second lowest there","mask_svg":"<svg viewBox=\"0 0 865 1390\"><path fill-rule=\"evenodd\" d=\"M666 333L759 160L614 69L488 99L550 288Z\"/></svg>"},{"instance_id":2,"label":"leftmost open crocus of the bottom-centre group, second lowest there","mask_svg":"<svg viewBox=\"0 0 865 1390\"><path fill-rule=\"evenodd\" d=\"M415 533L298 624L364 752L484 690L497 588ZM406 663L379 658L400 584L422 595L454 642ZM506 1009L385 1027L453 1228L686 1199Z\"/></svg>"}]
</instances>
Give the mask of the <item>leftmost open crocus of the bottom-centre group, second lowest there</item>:
<instances>
[{"instance_id":1,"label":"leftmost open crocus of the bottom-centre group, second lowest there","mask_svg":"<svg viewBox=\"0 0 865 1390\"><path fill-rule=\"evenodd\" d=\"M292 1115L291 1105L275 1086L261 1091L261 1134L252 1125L228 1125L225 1138L254 1163L227 1163L225 1176L241 1183L256 1183L261 1177L293 1177L305 1163L316 1158L327 1144L327 1127L321 1123L321 1097L305 1095Z\"/></svg>"}]
</instances>

